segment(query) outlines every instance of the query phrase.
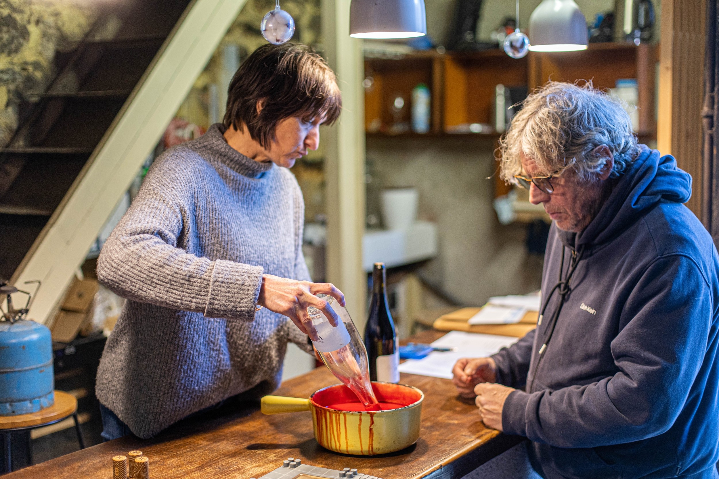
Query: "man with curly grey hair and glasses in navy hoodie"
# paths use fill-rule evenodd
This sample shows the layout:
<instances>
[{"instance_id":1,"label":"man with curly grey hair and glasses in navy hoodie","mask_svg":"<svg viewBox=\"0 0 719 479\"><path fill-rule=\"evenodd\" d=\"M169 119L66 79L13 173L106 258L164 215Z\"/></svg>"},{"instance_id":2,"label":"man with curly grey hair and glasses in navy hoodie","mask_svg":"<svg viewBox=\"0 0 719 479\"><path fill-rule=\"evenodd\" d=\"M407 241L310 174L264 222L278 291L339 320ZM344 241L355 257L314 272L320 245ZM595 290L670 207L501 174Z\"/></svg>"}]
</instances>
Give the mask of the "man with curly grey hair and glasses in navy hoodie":
<instances>
[{"instance_id":1,"label":"man with curly grey hair and glasses in navy hoodie","mask_svg":"<svg viewBox=\"0 0 719 479\"><path fill-rule=\"evenodd\" d=\"M719 478L719 256L690 175L623 106L547 83L500 144L502 178L553 220L535 330L454 366L487 426L544 478Z\"/></svg>"}]
</instances>

